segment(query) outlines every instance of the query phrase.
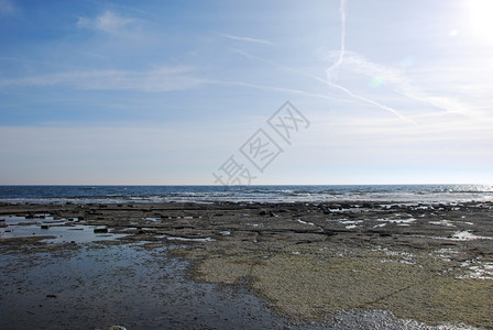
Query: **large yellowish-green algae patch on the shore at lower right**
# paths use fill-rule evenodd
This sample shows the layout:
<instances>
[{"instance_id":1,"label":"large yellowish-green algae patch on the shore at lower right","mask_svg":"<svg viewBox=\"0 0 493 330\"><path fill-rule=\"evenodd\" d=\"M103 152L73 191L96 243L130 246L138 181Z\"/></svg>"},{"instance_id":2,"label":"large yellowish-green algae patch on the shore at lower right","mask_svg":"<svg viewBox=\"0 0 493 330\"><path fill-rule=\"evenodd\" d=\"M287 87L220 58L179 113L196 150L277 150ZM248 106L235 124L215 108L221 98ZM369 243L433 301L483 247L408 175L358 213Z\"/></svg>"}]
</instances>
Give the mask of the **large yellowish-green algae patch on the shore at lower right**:
<instances>
[{"instance_id":1,"label":"large yellowish-green algae patch on the shore at lower right","mask_svg":"<svg viewBox=\"0 0 493 330\"><path fill-rule=\"evenodd\" d=\"M296 321L363 309L390 310L429 324L493 327L493 282L458 279L463 274L460 267L450 267L429 252L327 243L261 246L253 253L251 246L228 251L219 243L179 253L198 261L197 279L231 285L249 278L250 288Z\"/></svg>"}]
</instances>

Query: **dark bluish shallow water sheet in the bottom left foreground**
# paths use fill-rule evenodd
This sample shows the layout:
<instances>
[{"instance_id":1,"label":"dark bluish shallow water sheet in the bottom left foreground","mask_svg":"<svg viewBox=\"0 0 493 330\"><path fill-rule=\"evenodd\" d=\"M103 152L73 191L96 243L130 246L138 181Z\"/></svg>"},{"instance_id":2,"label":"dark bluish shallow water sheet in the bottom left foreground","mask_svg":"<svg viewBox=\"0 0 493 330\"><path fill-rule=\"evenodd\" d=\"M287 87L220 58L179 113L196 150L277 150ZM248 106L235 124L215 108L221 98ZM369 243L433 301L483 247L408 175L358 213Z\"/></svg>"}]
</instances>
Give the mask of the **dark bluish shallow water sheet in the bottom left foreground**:
<instances>
[{"instance_id":1,"label":"dark bluish shallow water sheet in the bottom left foreground","mask_svg":"<svg viewBox=\"0 0 493 330\"><path fill-rule=\"evenodd\" d=\"M2 254L1 328L289 329L255 296L193 282L168 249L94 243Z\"/></svg>"}]
</instances>

